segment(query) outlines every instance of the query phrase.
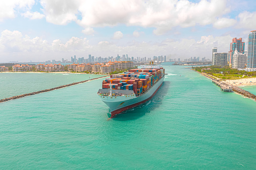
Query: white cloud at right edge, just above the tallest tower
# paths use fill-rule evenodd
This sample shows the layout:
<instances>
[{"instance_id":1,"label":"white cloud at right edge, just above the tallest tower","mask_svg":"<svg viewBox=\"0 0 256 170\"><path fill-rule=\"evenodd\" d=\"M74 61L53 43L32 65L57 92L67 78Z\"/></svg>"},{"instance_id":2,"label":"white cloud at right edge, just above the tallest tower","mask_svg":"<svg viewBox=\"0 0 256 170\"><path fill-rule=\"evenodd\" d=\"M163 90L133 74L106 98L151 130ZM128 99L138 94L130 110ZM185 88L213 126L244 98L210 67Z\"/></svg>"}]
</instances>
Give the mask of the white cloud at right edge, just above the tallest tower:
<instances>
[{"instance_id":1,"label":"white cloud at right edge, just above the tallest tower","mask_svg":"<svg viewBox=\"0 0 256 170\"><path fill-rule=\"evenodd\" d=\"M238 28L245 28L250 30L256 30L256 12L242 12L238 15L239 24Z\"/></svg>"}]
</instances>

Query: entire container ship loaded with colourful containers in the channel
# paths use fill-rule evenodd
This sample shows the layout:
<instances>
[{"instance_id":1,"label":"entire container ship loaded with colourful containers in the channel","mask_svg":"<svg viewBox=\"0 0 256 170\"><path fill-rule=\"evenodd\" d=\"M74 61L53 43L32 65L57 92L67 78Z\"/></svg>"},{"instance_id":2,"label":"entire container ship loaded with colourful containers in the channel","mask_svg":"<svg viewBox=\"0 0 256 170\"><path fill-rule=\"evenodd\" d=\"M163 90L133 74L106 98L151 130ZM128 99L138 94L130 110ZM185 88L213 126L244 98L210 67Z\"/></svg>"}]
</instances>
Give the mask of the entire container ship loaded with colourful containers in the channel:
<instances>
[{"instance_id":1,"label":"entire container ship loaded with colourful containers in the channel","mask_svg":"<svg viewBox=\"0 0 256 170\"><path fill-rule=\"evenodd\" d=\"M110 75L102 82L98 96L116 114L150 100L162 85L164 69L160 65L142 65L123 74Z\"/></svg>"}]
</instances>

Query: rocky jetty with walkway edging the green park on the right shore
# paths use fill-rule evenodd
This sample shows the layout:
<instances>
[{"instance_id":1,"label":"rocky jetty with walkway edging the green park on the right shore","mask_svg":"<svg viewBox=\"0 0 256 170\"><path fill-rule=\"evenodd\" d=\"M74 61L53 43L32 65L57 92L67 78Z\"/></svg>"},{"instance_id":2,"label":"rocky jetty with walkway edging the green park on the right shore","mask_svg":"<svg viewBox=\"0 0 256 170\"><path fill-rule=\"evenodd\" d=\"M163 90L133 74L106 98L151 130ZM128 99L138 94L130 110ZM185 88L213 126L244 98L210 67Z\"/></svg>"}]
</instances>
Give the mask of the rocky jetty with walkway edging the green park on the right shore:
<instances>
[{"instance_id":1,"label":"rocky jetty with walkway edging the green park on the right shore","mask_svg":"<svg viewBox=\"0 0 256 170\"><path fill-rule=\"evenodd\" d=\"M198 72L198 71L197 71L197 72ZM200 72L198 72L198 73L200 73ZM213 76L210 76L210 75L208 75L208 74L206 74L206 73L200 73L200 74L202 74L203 76L205 76L205 77L211 79L213 83L215 83L216 85L218 84L218 86L220 86L220 87L222 86L223 88L224 88L224 87L230 88L230 89L232 89L232 91L235 91L235 92L237 92L237 93L239 93L239 94L241 94L241 95L243 95L243 96L245 96L245 97L248 97L248 98L251 98L251 99L256 100L256 96L255 96L254 94L251 94L250 92L248 92L248 91L246 91L246 90L243 90L243 89L241 89L241 88L239 88L239 87L237 87L237 86L228 84L228 83L226 83L226 82L224 82L224 81L219 81L218 78L213 77ZM218 82L219 82L219 83L218 83ZM221 87L221 88L222 88L222 87ZM223 91L223 90L222 90L222 91ZM228 92L230 92L230 91L228 91Z\"/></svg>"}]
</instances>

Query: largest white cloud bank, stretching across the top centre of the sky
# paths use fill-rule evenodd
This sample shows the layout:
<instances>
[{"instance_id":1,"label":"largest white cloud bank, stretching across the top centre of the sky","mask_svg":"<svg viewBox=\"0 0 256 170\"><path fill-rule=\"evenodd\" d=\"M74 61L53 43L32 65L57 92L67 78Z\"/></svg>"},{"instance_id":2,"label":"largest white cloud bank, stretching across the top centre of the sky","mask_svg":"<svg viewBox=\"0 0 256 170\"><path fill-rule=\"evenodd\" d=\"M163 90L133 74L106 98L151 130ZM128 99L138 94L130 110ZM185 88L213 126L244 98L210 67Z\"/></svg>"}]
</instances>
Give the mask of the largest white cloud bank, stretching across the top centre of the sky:
<instances>
[{"instance_id":1,"label":"largest white cloud bank, stretching across the top centre of the sky","mask_svg":"<svg viewBox=\"0 0 256 170\"><path fill-rule=\"evenodd\" d=\"M226 0L201 0L192 3L188 0L124 0L124 1L81 1L42 0L46 20L50 23L65 25L76 21L84 28L116 26L141 26L155 28L154 34L162 35L174 27L193 27L214 24L216 27L229 27L231 19L217 21L229 12ZM81 19L77 19L77 16Z\"/></svg>"}]
</instances>

